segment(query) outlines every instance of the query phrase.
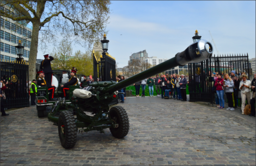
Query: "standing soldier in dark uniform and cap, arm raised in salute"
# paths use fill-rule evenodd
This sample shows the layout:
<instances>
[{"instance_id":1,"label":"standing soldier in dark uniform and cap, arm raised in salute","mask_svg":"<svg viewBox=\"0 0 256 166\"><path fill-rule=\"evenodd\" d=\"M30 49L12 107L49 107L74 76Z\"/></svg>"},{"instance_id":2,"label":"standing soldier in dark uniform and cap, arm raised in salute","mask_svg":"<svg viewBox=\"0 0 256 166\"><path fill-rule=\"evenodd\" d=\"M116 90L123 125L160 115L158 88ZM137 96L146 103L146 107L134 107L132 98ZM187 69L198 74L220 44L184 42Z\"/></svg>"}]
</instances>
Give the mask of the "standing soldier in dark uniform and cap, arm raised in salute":
<instances>
[{"instance_id":1,"label":"standing soldier in dark uniform and cap, arm raised in salute","mask_svg":"<svg viewBox=\"0 0 256 166\"><path fill-rule=\"evenodd\" d=\"M52 85L52 67L51 61L54 60L53 57L49 57L49 54L44 55L45 59L42 60L40 64L40 70L44 70L45 73L45 80L47 83L48 88Z\"/></svg>"}]
</instances>

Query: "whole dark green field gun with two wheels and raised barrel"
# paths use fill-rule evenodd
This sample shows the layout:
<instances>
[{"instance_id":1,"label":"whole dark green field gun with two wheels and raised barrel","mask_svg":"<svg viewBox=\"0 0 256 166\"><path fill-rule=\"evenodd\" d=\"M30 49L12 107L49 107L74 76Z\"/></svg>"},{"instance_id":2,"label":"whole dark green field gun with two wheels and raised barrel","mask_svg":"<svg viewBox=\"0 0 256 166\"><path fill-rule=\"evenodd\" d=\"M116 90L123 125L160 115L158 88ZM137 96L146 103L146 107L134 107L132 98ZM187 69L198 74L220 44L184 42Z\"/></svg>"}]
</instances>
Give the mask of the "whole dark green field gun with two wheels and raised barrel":
<instances>
[{"instance_id":1,"label":"whole dark green field gun with two wheels and raised barrel","mask_svg":"<svg viewBox=\"0 0 256 166\"><path fill-rule=\"evenodd\" d=\"M110 128L114 137L123 138L129 132L127 113L121 106L110 108L109 105L117 97L118 90L170 68L209 59L212 51L210 42L200 40L177 53L174 58L121 82L95 81L84 89L70 87L70 100L60 98L48 114L48 120L58 126L62 147L66 149L74 147L77 132L97 130L104 133L103 129Z\"/></svg>"}]
</instances>

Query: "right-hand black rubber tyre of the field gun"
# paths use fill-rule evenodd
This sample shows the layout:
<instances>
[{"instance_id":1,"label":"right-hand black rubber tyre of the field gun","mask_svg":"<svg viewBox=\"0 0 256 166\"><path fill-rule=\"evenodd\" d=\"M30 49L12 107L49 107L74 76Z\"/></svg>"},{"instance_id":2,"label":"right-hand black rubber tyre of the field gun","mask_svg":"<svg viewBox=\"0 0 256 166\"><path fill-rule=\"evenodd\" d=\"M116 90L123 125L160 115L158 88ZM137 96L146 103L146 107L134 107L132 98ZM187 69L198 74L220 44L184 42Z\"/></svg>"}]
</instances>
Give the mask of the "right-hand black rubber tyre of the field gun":
<instances>
[{"instance_id":1,"label":"right-hand black rubber tyre of the field gun","mask_svg":"<svg viewBox=\"0 0 256 166\"><path fill-rule=\"evenodd\" d=\"M110 128L110 132L117 139L122 139L129 132L129 118L125 109L121 106L113 106L110 108L110 117L116 120L117 128Z\"/></svg>"}]
</instances>

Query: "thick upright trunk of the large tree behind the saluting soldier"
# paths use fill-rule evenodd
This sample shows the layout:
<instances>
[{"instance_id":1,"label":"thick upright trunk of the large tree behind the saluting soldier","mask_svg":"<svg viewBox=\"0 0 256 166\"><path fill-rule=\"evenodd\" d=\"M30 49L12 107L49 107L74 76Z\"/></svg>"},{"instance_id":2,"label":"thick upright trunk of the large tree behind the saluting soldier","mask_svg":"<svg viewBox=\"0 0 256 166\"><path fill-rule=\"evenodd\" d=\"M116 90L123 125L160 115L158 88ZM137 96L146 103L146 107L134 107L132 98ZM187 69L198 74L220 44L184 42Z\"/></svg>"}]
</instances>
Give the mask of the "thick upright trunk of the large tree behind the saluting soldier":
<instances>
[{"instance_id":1,"label":"thick upright trunk of the large tree behind the saluting soldier","mask_svg":"<svg viewBox=\"0 0 256 166\"><path fill-rule=\"evenodd\" d=\"M31 49L29 53L29 80L35 79L36 75L36 57L38 48L38 35L39 35L39 25L40 21L33 22L33 30L31 37Z\"/></svg>"}]
</instances>

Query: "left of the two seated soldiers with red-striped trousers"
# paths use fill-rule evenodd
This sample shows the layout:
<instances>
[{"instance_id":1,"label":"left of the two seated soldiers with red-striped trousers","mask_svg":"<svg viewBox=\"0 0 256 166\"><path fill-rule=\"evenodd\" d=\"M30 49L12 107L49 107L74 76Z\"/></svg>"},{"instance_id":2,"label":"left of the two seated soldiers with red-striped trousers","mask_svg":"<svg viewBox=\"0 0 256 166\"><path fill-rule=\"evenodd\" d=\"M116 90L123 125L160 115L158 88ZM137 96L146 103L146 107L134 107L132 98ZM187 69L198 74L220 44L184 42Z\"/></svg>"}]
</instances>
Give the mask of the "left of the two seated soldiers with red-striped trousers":
<instances>
[{"instance_id":1,"label":"left of the two seated soldiers with red-striped trousers","mask_svg":"<svg viewBox=\"0 0 256 166\"><path fill-rule=\"evenodd\" d=\"M48 87L49 92L49 100L58 100L54 97L54 91L56 87L54 85L48 86L46 80L44 79L45 73L42 70L37 71L38 78L37 78L37 86L40 87Z\"/></svg>"}]
</instances>

